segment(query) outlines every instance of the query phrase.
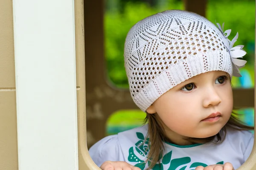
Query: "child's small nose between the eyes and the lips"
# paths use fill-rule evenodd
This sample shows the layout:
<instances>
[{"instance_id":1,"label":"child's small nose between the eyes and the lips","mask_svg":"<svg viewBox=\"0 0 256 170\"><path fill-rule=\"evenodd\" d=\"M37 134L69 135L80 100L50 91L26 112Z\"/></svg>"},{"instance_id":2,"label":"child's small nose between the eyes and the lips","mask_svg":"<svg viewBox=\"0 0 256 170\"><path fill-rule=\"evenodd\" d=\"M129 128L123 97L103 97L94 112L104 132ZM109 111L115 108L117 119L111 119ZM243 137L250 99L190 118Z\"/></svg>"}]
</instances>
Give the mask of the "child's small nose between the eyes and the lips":
<instances>
[{"instance_id":1,"label":"child's small nose between the eyes and the lips","mask_svg":"<svg viewBox=\"0 0 256 170\"><path fill-rule=\"evenodd\" d=\"M207 89L204 94L204 107L215 106L221 103L221 98L214 88Z\"/></svg>"}]
</instances>

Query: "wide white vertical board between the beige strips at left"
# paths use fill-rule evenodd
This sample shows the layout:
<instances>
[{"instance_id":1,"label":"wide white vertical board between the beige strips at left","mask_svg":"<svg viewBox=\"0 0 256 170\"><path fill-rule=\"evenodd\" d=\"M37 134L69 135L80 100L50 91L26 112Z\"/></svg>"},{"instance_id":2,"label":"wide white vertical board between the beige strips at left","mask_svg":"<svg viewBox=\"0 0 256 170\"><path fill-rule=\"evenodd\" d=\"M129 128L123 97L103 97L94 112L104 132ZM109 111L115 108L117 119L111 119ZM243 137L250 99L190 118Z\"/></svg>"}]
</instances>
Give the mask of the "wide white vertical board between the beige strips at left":
<instances>
[{"instance_id":1,"label":"wide white vertical board between the beige strips at left","mask_svg":"<svg viewBox=\"0 0 256 170\"><path fill-rule=\"evenodd\" d=\"M19 170L78 170L74 0L13 0Z\"/></svg>"}]
</instances>

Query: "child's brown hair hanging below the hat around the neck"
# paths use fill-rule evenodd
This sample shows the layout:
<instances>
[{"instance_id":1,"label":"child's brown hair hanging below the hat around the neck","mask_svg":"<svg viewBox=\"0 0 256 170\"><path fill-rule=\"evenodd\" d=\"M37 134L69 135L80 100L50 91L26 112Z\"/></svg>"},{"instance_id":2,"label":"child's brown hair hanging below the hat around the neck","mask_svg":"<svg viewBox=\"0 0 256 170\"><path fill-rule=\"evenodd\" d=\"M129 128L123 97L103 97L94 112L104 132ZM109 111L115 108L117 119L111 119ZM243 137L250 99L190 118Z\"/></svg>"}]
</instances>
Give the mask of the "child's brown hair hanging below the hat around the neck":
<instances>
[{"instance_id":1,"label":"child's brown hair hanging below the hat around the neck","mask_svg":"<svg viewBox=\"0 0 256 170\"><path fill-rule=\"evenodd\" d=\"M149 138L150 142L150 150L148 152L148 158L146 162L150 161L149 167L146 170L152 169L157 162L160 161L160 155L163 155L164 150L164 142L163 141L170 141L163 129L163 125L157 121L156 117L157 113L149 114L147 113L146 118L144 120L144 124L148 123L148 134L147 137ZM195 143L195 144L204 144L207 142L214 142L215 144L221 143L226 137L226 128L230 127L235 130L253 130L254 127L250 127L245 125L241 120L238 118L239 114L232 112L229 121L225 126L220 130L220 132L214 136L208 138L189 138L188 141ZM216 139L216 140L215 140Z\"/></svg>"}]
</instances>

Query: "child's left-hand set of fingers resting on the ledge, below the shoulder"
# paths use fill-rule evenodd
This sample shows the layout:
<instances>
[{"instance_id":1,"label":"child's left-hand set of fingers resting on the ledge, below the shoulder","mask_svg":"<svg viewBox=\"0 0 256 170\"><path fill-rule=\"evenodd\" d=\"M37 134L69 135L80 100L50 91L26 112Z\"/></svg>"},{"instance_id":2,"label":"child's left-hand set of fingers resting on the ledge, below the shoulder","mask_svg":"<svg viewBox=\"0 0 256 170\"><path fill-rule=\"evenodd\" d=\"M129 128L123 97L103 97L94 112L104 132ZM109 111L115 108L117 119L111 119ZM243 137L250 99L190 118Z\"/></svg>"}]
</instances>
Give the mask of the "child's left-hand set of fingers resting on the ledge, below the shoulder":
<instances>
[{"instance_id":1,"label":"child's left-hand set of fingers resting on the ledge, below the shoulder","mask_svg":"<svg viewBox=\"0 0 256 170\"><path fill-rule=\"evenodd\" d=\"M105 161L101 166L102 170L140 170L124 161Z\"/></svg>"}]
</instances>

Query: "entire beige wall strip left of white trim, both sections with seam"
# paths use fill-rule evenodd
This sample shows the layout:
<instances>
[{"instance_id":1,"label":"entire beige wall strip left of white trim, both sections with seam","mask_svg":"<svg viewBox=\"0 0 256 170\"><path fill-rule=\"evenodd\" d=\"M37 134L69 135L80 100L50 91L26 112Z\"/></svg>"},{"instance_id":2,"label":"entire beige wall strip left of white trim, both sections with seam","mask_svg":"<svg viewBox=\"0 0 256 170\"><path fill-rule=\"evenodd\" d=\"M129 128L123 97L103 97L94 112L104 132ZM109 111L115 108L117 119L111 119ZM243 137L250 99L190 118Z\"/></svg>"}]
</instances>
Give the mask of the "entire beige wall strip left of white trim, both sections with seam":
<instances>
[{"instance_id":1,"label":"entire beige wall strip left of white trim, both sections with seam","mask_svg":"<svg viewBox=\"0 0 256 170\"><path fill-rule=\"evenodd\" d=\"M0 170L17 170L12 0L0 0Z\"/></svg>"}]
</instances>

